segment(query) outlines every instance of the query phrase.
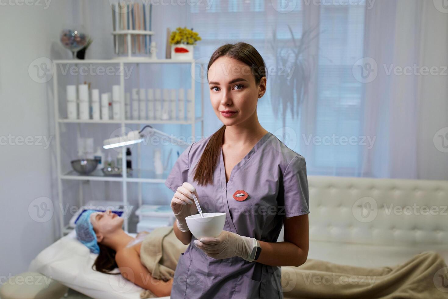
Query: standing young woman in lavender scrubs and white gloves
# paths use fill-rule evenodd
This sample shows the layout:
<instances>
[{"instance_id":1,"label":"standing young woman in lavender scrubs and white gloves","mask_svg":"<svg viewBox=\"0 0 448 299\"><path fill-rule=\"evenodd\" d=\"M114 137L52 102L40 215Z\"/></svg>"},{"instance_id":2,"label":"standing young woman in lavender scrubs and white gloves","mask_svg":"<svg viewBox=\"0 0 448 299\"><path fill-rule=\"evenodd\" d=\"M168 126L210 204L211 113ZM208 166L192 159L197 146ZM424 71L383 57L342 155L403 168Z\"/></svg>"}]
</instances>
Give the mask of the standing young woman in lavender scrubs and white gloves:
<instances>
[{"instance_id":1,"label":"standing young woman in lavender scrubs and white gloves","mask_svg":"<svg viewBox=\"0 0 448 299\"><path fill-rule=\"evenodd\" d=\"M308 256L305 159L258 122L266 67L247 43L224 44L208 63L211 106L223 126L192 143L165 185L175 192L174 232L184 244L171 298L283 298L280 266ZM194 238L185 217L225 212L216 238ZM276 242L284 225L284 242ZM260 248L261 247L261 252Z\"/></svg>"}]
</instances>

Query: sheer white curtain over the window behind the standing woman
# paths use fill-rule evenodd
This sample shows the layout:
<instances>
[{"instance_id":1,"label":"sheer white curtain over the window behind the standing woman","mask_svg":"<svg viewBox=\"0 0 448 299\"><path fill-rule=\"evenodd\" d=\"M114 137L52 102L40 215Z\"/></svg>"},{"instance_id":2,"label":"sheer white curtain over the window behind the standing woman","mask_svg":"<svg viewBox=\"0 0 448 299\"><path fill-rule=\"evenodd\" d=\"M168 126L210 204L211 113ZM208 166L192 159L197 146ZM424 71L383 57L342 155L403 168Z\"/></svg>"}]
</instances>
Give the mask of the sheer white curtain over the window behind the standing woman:
<instances>
[{"instance_id":1,"label":"sheer white curtain over the window behind the standing woman","mask_svg":"<svg viewBox=\"0 0 448 299\"><path fill-rule=\"evenodd\" d=\"M440 161L447 165L447 154L433 143L436 131L448 127L447 82L442 79L447 77L394 75L393 70L388 74L391 66L423 66L427 61L446 65L447 56L442 51L432 56L435 51L427 42L439 39L438 47L446 53L446 34L440 39L434 30L443 35L448 14L438 11L432 1L350 3L215 0L211 9L192 6L190 27L202 37L195 57L210 57L223 43L245 41L257 48L267 67L287 68L289 64L278 58L296 47L288 25L297 43L302 32L314 27L318 36L306 42L301 56L315 65L298 117L292 117L291 106L284 118L281 109L276 115L274 106L283 103L279 99L292 87L276 80L275 74L268 75L268 93L258 102L262 126L306 157L309 174L448 178L448 170L439 166ZM376 68L374 80L357 74L360 67L370 66L369 59L362 60L365 57L374 61L370 64ZM364 69L364 76L368 74ZM204 92L208 99L208 89ZM428 100L427 92L435 101ZM297 97L295 92L290 95ZM207 113L211 111L207 100L205 111L205 135L210 135L220 121Z\"/></svg>"}]
</instances>

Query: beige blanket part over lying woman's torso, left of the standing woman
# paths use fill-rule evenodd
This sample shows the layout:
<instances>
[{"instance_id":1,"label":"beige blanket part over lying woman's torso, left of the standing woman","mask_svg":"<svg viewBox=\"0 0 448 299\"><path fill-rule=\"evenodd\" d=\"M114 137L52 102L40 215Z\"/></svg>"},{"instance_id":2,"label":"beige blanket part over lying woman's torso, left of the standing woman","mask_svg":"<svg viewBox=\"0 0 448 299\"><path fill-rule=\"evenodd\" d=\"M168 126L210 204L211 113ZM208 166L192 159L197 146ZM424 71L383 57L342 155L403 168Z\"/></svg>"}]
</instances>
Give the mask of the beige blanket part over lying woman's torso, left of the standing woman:
<instances>
[{"instance_id":1,"label":"beige blanket part over lying woman's torso, left of the standing woman","mask_svg":"<svg viewBox=\"0 0 448 299\"><path fill-rule=\"evenodd\" d=\"M156 279L168 281L174 276L179 256L188 245L182 244L172 226L152 230L142 241L140 261ZM156 298L150 290L142 290L140 298Z\"/></svg>"}]
</instances>

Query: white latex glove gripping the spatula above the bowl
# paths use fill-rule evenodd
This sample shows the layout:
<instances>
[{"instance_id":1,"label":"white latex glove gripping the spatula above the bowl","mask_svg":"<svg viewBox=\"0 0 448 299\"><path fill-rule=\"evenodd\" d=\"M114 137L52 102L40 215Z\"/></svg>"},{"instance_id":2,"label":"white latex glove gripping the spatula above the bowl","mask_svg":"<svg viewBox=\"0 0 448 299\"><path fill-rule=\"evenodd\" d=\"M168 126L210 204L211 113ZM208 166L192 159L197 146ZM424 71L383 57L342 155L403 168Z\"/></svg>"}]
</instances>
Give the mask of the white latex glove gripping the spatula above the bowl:
<instances>
[{"instance_id":1,"label":"white latex glove gripping the spatula above the bowl","mask_svg":"<svg viewBox=\"0 0 448 299\"><path fill-rule=\"evenodd\" d=\"M198 208L194 203L192 193L198 198L196 188L189 182L184 182L182 186L177 187L177 191L171 199L171 209L174 216L176 216L177 227L184 233L190 231L187 222L185 221L185 217L198 213Z\"/></svg>"}]
</instances>

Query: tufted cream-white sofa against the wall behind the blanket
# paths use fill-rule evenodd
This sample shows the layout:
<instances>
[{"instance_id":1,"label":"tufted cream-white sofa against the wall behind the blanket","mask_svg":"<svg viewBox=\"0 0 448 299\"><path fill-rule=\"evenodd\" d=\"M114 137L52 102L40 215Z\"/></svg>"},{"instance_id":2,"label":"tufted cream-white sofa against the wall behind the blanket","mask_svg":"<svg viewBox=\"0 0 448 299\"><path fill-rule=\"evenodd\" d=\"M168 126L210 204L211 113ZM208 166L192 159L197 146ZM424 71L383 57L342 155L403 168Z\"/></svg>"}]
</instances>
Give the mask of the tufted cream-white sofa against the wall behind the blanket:
<instances>
[{"instance_id":1,"label":"tufted cream-white sofa against the wall behind the blanket","mask_svg":"<svg viewBox=\"0 0 448 299\"><path fill-rule=\"evenodd\" d=\"M308 258L379 267L431 250L448 263L448 181L308 176L308 185Z\"/></svg>"}]
</instances>

